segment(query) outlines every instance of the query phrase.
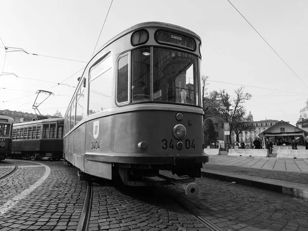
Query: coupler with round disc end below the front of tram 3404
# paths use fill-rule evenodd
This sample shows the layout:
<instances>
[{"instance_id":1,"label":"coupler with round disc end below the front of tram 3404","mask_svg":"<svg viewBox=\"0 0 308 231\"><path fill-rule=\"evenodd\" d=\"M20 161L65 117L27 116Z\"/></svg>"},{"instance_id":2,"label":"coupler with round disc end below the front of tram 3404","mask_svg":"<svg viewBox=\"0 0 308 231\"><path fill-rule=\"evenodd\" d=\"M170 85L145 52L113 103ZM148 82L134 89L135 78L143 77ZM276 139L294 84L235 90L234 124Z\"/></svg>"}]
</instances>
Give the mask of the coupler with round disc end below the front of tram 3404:
<instances>
[{"instance_id":1,"label":"coupler with round disc end below the front of tram 3404","mask_svg":"<svg viewBox=\"0 0 308 231\"><path fill-rule=\"evenodd\" d=\"M185 194L188 198L194 198L198 196L199 193L199 186L194 183L195 178L186 178L186 179L172 179L160 174L156 174L157 177L162 178L166 181L170 181L171 184L174 184L180 188L182 188L185 191Z\"/></svg>"}]
</instances>

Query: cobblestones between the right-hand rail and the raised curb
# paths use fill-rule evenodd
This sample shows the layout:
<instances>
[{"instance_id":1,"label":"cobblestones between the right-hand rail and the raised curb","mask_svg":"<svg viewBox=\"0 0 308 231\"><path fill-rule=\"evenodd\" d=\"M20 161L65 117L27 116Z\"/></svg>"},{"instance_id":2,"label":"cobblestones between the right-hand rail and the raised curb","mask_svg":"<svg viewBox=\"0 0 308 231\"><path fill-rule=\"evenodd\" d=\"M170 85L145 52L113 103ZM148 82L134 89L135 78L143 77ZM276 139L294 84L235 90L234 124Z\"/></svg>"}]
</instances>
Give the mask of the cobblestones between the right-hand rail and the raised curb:
<instances>
[{"instance_id":1,"label":"cobblestones between the right-hand rail and the raised curb","mask_svg":"<svg viewBox=\"0 0 308 231\"><path fill-rule=\"evenodd\" d=\"M225 230L308 230L308 201L208 178L198 178L199 195L164 186L183 204Z\"/></svg>"}]
</instances>

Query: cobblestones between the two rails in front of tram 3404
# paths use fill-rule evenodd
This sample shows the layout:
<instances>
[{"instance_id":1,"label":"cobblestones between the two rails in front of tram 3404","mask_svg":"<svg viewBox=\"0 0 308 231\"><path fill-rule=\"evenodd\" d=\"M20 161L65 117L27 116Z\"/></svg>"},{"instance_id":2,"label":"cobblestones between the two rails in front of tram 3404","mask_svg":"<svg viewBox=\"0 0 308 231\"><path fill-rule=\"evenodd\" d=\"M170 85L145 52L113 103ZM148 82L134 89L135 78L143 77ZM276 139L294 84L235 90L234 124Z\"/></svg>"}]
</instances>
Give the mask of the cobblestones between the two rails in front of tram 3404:
<instances>
[{"instance_id":1,"label":"cobblestones between the two rails in front of tram 3404","mask_svg":"<svg viewBox=\"0 0 308 231\"><path fill-rule=\"evenodd\" d=\"M89 230L210 230L154 187L94 184Z\"/></svg>"}]
</instances>

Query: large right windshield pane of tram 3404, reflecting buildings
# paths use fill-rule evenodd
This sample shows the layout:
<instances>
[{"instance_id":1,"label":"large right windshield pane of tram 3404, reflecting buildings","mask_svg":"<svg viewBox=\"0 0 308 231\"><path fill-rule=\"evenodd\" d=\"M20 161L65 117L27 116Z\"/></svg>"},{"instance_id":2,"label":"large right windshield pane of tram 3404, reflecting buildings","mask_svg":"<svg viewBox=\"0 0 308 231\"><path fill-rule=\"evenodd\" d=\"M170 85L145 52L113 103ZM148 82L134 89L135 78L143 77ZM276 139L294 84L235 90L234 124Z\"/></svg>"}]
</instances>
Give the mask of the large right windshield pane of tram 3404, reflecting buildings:
<instances>
[{"instance_id":1,"label":"large right windshield pane of tram 3404, reflecting buildings","mask_svg":"<svg viewBox=\"0 0 308 231\"><path fill-rule=\"evenodd\" d=\"M153 99L199 105L195 55L153 48Z\"/></svg>"}]
</instances>

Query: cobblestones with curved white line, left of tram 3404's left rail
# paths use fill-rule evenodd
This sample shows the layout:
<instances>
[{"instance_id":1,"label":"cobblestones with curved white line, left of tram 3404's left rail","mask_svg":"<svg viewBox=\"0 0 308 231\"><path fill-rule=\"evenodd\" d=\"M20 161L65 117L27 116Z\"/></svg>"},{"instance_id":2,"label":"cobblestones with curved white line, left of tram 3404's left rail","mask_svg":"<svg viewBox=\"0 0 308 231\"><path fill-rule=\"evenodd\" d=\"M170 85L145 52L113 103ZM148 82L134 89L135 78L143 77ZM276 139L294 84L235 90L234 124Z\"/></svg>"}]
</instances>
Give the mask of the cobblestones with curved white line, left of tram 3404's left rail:
<instances>
[{"instance_id":1,"label":"cobblestones with curved white line, left of tram 3404's left rail","mask_svg":"<svg viewBox=\"0 0 308 231\"><path fill-rule=\"evenodd\" d=\"M0 230L76 230L87 188L78 181L76 168L14 159L0 166L7 163L18 169L0 181Z\"/></svg>"}]
</instances>

